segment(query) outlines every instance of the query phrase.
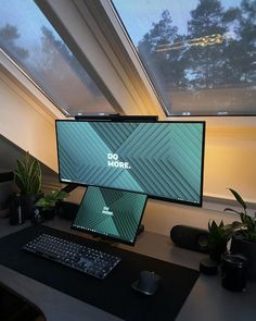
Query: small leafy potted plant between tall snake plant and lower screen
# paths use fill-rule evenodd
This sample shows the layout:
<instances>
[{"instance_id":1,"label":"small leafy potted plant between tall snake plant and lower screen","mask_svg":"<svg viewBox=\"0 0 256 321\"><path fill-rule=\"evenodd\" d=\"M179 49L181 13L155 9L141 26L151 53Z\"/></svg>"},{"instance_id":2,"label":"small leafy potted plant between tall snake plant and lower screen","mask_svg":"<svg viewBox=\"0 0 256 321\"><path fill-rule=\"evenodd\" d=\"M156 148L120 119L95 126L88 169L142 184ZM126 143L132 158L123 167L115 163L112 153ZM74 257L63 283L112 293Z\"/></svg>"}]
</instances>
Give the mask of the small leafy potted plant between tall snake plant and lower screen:
<instances>
[{"instance_id":1,"label":"small leafy potted plant between tall snake plant and lower screen","mask_svg":"<svg viewBox=\"0 0 256 321\"><path fill-rule=\"evenodd\" d=\"M52 190L50 194L46 194L43 197L41 197L36 202L36 206L41 209L42 217L44 219L52 219L57 211L59 202L67 196L68 193L64 190Z\"/></svg>"}]
</instances>

